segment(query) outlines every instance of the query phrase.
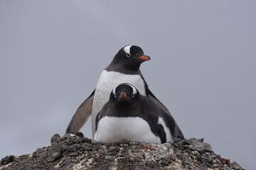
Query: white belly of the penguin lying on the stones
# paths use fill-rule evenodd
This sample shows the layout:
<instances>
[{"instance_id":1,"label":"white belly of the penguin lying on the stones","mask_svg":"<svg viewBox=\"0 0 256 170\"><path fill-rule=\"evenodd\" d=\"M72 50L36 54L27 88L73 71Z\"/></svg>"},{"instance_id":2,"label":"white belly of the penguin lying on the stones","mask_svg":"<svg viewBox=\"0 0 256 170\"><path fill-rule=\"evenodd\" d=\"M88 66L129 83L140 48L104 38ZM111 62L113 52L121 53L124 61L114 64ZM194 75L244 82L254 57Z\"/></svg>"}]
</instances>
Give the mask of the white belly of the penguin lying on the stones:
<instances>
[{"instance_id":1,"label":"white belly of the penguin lying on the stones","mask_svg":"<svg viewBox=\"0 0 256 170\"><path fill-rule=\"evenodd\" d=\"M105 116L97 126L94 139L101 143L125 141L161 143L160 138L151 132L146 120L139 117L117 118Z\"/></svg>"}]
</instances>

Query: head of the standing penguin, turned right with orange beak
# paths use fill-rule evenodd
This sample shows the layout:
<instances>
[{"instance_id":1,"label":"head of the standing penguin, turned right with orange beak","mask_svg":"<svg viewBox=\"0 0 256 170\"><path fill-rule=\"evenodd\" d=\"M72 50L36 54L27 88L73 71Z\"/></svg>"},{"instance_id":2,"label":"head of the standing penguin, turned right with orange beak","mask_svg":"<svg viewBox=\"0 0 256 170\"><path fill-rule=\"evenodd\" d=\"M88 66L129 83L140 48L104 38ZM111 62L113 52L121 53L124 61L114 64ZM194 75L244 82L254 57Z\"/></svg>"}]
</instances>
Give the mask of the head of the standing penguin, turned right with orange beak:
<instances>
[{"instance_id":1,"label":"head of the standing penguin, turned right with orange beak","mask_svg":"<svg viewBox=\"0 0 256 170\"><path fill-rule=\"evenodd\" d=\"M114 56L114 62L122 64L123 67L137 71L142 62L150 60L150 57L144 55L141 47L136 45L126 45L122 47L117 55Z\"/></svg>"}]
</instances>

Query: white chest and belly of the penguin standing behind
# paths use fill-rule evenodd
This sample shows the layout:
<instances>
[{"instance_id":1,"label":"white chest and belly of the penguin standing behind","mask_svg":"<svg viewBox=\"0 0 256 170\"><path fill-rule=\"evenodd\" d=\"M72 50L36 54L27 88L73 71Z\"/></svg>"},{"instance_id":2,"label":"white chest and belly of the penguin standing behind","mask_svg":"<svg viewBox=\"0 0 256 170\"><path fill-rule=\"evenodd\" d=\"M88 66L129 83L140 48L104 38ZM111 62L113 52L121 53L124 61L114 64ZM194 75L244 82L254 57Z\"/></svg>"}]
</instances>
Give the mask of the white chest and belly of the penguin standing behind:
<instances>
[{"instance_id":1,"label":"white chest and belly of the penguin standing behind","mask_svg":"<svg viewBox=\"0 0 256 170\"><path fill-rule=\"evenodd\" d=\"M122 74L119 72L107 72L103 70L97 82L95 96L92 104L92 138L95 135L95 117L102 107L109 101L110 93L114 86L128 83L136 87L140 94L146 95L145 84L139 75Z\"/></svg>"}]
</instances>

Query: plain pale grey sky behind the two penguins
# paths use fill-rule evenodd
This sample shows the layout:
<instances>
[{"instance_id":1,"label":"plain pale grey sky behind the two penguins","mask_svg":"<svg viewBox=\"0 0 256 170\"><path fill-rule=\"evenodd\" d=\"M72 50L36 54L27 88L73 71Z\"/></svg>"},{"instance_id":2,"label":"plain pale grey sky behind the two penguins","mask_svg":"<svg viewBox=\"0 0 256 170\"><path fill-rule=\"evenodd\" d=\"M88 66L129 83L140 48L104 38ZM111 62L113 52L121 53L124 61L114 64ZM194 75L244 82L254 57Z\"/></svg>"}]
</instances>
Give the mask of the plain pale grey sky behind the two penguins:
<instances>
[{"instance_id":1,"label":"plain pale grey sky behind the two penguins","mask_svg":"<svg viewBox=\"0 0 256 170\"><path fill-rule=\"evenodd\" d=\"M63 135L124 45L185 137L253 169L255 1L0 1L0 159ZM90 123L82 132L91 137Z\"/></svg>"}]
</instances>

